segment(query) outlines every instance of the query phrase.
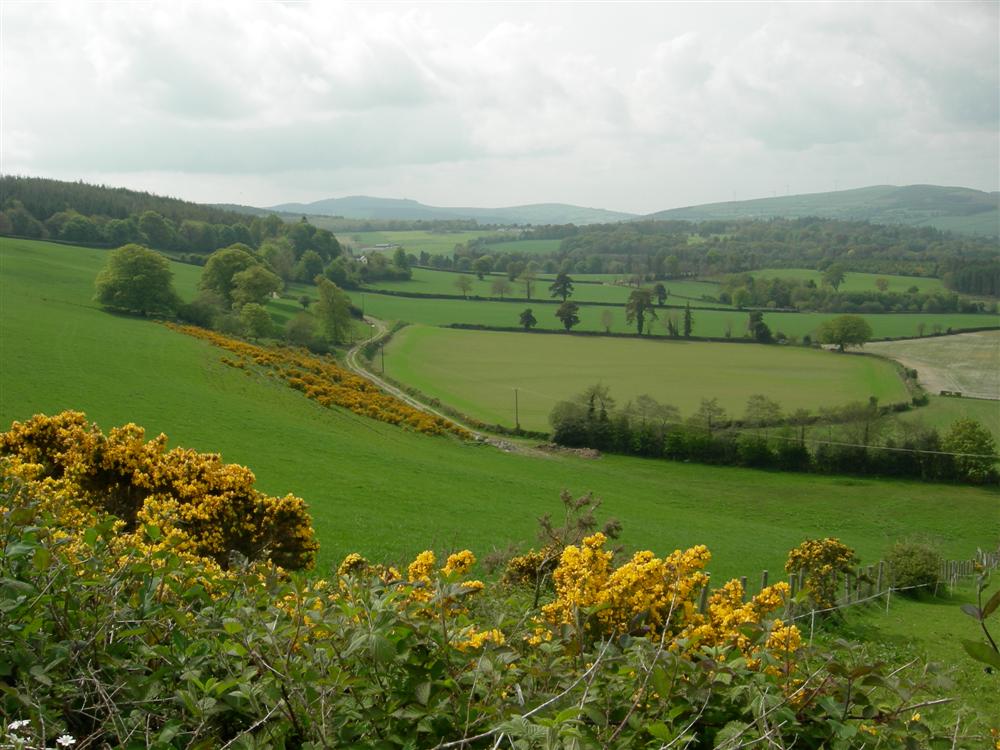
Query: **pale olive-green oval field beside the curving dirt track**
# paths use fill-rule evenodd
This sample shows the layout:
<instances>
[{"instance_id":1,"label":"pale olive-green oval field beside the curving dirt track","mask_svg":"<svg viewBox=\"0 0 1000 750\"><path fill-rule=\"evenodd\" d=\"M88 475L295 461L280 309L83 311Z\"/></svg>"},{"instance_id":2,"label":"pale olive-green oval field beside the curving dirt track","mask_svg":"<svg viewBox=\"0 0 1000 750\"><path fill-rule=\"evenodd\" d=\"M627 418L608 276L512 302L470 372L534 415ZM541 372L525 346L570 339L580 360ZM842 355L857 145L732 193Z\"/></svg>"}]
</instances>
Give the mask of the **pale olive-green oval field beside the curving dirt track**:
<instances>
[{"instance_id":1,"label":"pale olive-green oval field beside the curving dirt track","mask_svg":"<svg viewBox=\"0 0 1000 750\"><path fill-rule=\"evenodd\" d=\"M385 352L396 380L489 423L547 430L557 401L595 383L624 404L641 394L673 404L683 417L702 398L718 398L734 416L763 393L786 410L836 406L876 396L906 401L895 368L874 357L799 347L638 341L525 335L411 326Z\"/></svg>"}]
</instances>

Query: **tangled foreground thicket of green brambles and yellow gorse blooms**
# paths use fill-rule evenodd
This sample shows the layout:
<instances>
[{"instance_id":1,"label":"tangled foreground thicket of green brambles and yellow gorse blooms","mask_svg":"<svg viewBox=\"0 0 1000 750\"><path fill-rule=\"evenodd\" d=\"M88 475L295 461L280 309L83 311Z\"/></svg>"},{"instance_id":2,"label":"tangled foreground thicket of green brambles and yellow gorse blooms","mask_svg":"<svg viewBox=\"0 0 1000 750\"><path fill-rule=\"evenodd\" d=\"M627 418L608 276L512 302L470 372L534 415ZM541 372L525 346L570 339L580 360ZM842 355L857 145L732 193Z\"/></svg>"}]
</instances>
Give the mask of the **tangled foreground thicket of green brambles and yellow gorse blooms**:
<instances>
[{"instance_id":1,"label":"tangled foreground thicket of green brambles and yellow gorse blooms","mask_svg":"<svg viewBox=\"0 0 1000 750\"><path fill-rule=\"evenodd\" d=\"M803 642L786 584L709 592L704 547L615 562L566 545L536 608L468 550L348 555L288 578L72 520L0 474L0 731L42 747L896 748L935 722L930 670ZM145 535L144 537L142 535Z\"/></svg>"}]
</instances>

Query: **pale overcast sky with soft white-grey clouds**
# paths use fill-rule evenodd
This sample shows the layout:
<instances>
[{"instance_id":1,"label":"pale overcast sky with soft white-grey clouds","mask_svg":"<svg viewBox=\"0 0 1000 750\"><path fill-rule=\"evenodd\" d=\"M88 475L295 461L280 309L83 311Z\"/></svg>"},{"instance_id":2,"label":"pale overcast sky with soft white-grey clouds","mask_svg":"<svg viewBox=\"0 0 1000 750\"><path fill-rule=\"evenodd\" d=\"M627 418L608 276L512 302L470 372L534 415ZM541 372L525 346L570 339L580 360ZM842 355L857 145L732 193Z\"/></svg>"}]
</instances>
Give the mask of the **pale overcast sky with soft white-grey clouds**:
<instances>
[{"instance_id":1,"label":"pale overcast sky with soft white-grey clouds","mask_svg":"<svg viewBox=\"0 0 1000 750\"><path fill-rule=\"evenodd\" d=\"M0 2L0 171L649 213L1000 181L1000 2Z\"/></svg>"}]
</instances>

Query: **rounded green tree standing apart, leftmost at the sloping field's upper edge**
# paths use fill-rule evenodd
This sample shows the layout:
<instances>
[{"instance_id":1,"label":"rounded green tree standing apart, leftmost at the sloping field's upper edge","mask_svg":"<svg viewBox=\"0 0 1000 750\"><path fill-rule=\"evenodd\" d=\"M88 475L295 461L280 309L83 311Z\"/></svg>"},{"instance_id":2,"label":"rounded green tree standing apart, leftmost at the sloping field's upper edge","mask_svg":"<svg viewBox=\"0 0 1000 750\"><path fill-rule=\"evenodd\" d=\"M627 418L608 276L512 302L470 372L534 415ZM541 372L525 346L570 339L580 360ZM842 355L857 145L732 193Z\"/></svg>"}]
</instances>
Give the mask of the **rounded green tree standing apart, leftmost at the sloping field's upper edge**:
<instances>
[{"instance_id":1,"label":"rounded green tree standing apart, leftmost at the sloping field's upper edge","mask_svg":"<svg viewBox=\"0 0 1000 750\"><path fill-rule=\"evenodd\" d=\"M97 275L97 301L143 315L171 313L179 304L167 259L142 245L125 245L108 255Z\"/></svg>"}]
</instances>

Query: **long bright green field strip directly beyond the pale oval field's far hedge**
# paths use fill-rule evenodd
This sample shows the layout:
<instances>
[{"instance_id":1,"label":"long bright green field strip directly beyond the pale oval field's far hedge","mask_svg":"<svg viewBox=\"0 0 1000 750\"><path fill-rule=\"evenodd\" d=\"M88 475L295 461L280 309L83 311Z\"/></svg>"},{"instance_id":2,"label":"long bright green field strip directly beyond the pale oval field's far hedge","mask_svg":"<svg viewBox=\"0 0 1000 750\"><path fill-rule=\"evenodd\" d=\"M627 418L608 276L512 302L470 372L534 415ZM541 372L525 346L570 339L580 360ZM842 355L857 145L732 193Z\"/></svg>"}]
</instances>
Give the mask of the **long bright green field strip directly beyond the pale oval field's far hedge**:
<instances>
[{"instance_id":1,"label":"long bright green field strip directly beyond the pale oval field's far hedge","mask_svg":"<svg viewBox=\"0 0 1000 750\"><path fill-rule=\"evenodd\" d=\"M354 304L361 304L361 292L351 292ZM541 292L536 289L536 296ZM517 326L518 316L526 307L532 308L539 328L559 330L562 324L555 317L556 305L529 302L476 302L462 299L407 299L388 297L371 292L364 293L365 312L383 320L405 320L410 323L427 325L451 325L452 323L474 323L488 326ZM625 306L599 307L582 305L580 325L583 331L603 331L603 314L612 316L612 333L635 333L635 325L625 322ZM684 311L679 309L658 310L659 319L652 321L655 335L666 335L668 316L678 320ZM835 313L765 313L764 320L774 333L784 333L796 339L809 334L813 337L820 323L835 318ZM936 329L946 331L951 328L978 328L1000 325L1000 316L973 314L914 313L900 315L865 315L876 339L916 336L923 324L931 333ZM739 338L746 330L748 315L733 310L697 310L694 314L694 335L724 337L727 329L734 338Z\"/></svg>"}]
</instances>

